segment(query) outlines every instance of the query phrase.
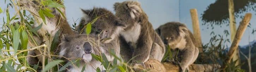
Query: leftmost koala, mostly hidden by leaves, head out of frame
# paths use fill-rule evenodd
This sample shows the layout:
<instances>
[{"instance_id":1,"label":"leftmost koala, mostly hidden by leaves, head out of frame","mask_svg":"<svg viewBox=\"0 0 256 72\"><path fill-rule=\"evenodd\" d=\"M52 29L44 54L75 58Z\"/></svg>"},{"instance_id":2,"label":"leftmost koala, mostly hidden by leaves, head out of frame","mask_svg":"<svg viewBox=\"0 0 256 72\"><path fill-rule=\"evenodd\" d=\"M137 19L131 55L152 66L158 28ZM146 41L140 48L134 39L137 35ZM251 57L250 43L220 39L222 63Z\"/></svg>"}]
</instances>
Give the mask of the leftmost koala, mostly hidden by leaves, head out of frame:
<instances>
[{"instance_id":1,"label":"leftmost koala, mostly hidden by leaves, head out of frame","mask_svg":"<svg viewBox=\"0 0 256 72\"><path fill-rule=\"evenodd\" d=\"M71 29L69 26L69 23L67 22L67 19L61 15L60 12L56 8L50 8L52 11L51 13L55 16L53 18L45 17L46 24L43 23L43 20L39 17L39 10L40 10L40 1L39 0L18 0L18 5L23 10L28 10L35 18L35 20L38 20L38 22L32 26L32 28L36 28L40 24L42 24L42 27L40 30L37 31L37 34L40 37L33 36L34 40L36 41L37 45L43 44L46 40L44 36L51 36L52 38L55 36L55 33L60 30L60 35L73 35L75 32ZM58 1L59 2L59 1ZM60 2L59 2L60 3ZM61 4L61 3L60 3ZM62 4L63 5L63 4ZM59 8L59 10L65 14L65 8ZM60 40L60 39L59 39ZM32 42L32 40L29 40ZM52 41L52 40L49 40ZM31 47L35 47L36 44L29 43ZM58 48L58 47L57 47ZM54 53L58 53L58 49L55 49L56 51ZM33 51L29 51L28 55L39 55L42 52L35 49ZM28 56L27 61L30 65L37 64L38 60L42 63L42 56L32 57Z\"/></svg>"}]
</instances>

